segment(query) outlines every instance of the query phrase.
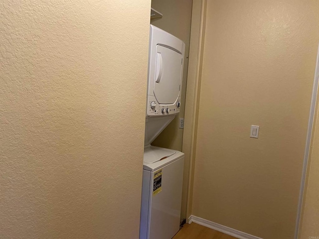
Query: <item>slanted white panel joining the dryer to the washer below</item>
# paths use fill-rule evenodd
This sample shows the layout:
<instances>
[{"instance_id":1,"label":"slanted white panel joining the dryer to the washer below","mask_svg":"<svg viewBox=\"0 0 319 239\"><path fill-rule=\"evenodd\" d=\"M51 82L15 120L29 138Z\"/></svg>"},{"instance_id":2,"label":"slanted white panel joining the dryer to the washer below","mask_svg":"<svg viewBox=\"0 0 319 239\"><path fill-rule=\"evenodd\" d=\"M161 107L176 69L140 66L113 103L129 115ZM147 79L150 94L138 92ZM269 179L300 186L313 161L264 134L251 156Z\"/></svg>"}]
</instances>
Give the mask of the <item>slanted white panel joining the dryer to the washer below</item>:
<instances>
[{"instance_id":1,"label":"slanted white panel joining the dryer to the washer below","mask_svg":"<svg viewBox=\"0 0 319 239\"><path fill-rule=\"evenodd\" d=\"M145 120L144 146L151 144L174 118L175 115L147 118Z\"/></svg>"}]
</instances>

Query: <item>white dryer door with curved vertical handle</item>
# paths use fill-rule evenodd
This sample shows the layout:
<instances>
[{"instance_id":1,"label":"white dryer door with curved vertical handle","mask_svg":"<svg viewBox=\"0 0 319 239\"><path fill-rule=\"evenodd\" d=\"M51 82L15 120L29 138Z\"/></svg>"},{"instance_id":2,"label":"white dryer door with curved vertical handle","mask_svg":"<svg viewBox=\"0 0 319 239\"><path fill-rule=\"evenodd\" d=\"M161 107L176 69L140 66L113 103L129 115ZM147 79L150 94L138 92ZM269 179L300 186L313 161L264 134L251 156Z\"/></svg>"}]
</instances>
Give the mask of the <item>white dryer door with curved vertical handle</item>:
<instances>
[{"instance_id":1,"label":"white dryer door with curved vertical handle","mask_svg":"<svg viewBox=\"0 0 319 239\"><path fill-rule=\"evenodd\" d=\"M179 96L182 55L157 45L154 95L161 105L174 104Z\"/></svg>"}]
</instances>

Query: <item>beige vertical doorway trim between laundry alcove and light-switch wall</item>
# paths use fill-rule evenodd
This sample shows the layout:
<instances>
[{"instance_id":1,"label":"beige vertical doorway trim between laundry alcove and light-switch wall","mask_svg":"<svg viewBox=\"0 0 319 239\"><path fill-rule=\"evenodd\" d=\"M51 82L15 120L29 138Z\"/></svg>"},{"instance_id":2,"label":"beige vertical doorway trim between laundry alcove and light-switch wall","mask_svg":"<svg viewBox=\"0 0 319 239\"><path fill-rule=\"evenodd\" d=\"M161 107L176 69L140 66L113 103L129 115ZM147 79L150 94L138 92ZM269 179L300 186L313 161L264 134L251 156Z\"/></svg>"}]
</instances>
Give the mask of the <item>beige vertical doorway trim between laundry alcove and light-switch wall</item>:
<instances>
[{"instance_id":1,"label":"beige vertical doorway trim between laundry alcove and light-switch wall","mask_svg":"<svg viewBox=\"0 0 319 239\"><path fill-rule=\"evenodd\" d=\"M186 85L184 132L182 151L188 166L186 221L192 211L193 175L196 153L197 120L201 81L201 65L204 46L207 0L193 0L189 46L189 62Z\"/></svg>"}]
</instances>

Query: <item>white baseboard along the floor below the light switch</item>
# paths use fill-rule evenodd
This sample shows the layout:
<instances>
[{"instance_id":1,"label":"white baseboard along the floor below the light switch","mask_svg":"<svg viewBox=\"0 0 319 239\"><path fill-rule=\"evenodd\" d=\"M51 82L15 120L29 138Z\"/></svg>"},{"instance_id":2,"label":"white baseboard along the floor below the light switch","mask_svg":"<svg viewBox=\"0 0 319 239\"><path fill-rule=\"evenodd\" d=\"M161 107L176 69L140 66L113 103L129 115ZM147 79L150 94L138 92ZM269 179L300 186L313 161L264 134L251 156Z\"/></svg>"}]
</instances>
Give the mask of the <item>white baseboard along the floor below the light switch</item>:
<instances>
[{"instance_id":1,"label":"white baseboard along the floor below the light switch","mask_svg":"<svg viewBox=\"0 0 319 239\"><path fill-rule=\"evenodd\" d=\"M216 230L218 232L227 234L229 236L232 236L232 237L235 237L235 238L238 238L238 239L261 239L261 238L249 235L247 233L243 233L243 232L240 232L238 230L235 230L235 229L232 229L232 228L228 228L228 227L220 225L218 223L213 223L213 222L210 222L210 221L208 221L206 219L202 219L202 218L199 218L199 217L196 217L196 216L193 216L193 215L191 215L188 218L188 223L189 224L196 223L196 224L202 225L202 226L204 226L206 228L210 228L210 229Z\"/></svg>"}]
</instances>

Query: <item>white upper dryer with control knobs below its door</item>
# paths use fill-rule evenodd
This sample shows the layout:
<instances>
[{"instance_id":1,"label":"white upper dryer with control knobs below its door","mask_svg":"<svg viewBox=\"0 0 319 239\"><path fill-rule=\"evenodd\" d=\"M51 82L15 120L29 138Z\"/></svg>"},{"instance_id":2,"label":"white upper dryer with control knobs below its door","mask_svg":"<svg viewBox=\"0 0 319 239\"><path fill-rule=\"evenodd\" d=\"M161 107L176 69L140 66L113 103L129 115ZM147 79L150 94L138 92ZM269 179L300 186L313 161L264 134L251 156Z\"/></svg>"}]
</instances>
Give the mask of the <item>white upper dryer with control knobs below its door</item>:
<instances>
[{"instance_id":1,"label":"white upper dryer with control knobs below its door","mask_svg":"<svg viewBox=\"0 0 319 239\"><path fill-rule=\"evenodd\" d=\"M185 43L151 25L146 117L179 113Z\"/></svg>"}]
</instances>

